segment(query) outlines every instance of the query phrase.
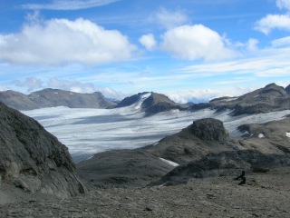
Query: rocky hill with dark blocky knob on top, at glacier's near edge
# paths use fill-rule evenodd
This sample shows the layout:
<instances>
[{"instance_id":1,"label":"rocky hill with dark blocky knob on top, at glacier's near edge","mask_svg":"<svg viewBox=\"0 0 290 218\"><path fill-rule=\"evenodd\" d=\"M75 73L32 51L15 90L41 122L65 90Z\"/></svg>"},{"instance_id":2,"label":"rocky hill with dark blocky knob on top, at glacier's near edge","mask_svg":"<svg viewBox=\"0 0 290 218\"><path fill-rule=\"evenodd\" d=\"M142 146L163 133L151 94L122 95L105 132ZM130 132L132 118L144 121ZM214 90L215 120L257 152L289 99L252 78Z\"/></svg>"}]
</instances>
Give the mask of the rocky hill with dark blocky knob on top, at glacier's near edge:
<instances>
[{"instance_id":1,"label":"rocky hill with dark blocky knob on top, at glacier's near edge","mask_svg":"<svg viewBox=\"0 0 290 218\"><path fill-rule=\"evenodd\" d=\"M142 148L175 163L185 164L210 153L242 149L233 144L223 123L206 118L193 122L178 134L167 136L156 145Z\"/></svg>"}]
</instances>

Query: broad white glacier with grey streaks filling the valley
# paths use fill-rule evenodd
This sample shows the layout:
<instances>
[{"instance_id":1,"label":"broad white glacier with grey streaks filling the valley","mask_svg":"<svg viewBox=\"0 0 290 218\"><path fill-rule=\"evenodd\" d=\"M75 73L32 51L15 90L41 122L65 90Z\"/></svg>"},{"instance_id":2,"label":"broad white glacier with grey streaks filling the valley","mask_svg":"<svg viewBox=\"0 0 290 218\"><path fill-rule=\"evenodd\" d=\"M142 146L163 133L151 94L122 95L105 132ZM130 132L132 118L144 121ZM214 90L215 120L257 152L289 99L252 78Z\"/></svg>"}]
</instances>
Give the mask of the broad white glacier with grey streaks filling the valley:
<instances>
[{"instance_id":1,"label":"broad white glacier with grey streaks filling the valley","mask_svg":"<svg viewBox=\"0 0 290 218\"><path fill-rule=\"evenodd\" d=\"M146 96L147 97L147 96ZM64 106L22 113L33 117L65 144L75 162L112 149L134 149L155 144L161 138L178 133L193 121L213 117L224 122L228 133L239 137L240 124L260 124L283 119L290 110L255 115L230 116L204 109L197 112L172 110L144 116L140 104L115 109L84 109Z\"/></svg>"}]
</instances>

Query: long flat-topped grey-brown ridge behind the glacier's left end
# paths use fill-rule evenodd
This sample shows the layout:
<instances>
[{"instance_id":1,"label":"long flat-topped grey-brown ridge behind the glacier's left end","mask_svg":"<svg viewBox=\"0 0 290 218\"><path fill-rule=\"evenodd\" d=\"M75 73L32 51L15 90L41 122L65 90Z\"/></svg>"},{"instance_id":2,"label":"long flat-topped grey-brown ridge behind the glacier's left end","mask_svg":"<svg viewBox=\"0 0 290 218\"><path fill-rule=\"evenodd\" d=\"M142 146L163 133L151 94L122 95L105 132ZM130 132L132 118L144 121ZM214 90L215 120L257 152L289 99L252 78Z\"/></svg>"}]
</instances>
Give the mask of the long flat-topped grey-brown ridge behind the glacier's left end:
<instances>
[{"instance_id":1,"label":"long flat-topped grey-brown ridge behind the glacier's left end","mask_svg":"<svg viewBox=\"0 0 290 218\"><path fill-rule=\"evenodd\" d=\"M99 92L93 94L80 94L50 88L28 95L14 91L1 92L0 101L17 110L32 110L55 106L67 106L72 108L108 108L116 105L106 100Z\"/></svg>"}]
</instances>

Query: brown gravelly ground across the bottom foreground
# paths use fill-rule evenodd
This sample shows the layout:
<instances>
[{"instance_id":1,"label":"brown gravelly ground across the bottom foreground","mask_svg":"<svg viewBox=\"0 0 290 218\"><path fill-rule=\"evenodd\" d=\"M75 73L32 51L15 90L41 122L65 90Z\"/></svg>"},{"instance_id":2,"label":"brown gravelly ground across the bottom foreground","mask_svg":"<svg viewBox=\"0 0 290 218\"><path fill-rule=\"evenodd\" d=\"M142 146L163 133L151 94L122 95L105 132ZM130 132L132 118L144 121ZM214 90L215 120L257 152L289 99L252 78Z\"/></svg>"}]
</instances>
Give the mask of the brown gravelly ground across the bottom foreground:
<instances>
[{"instance_id":1,"label":"brown gravelly ground across the bottom foreground","mask_svg":"<svg viewBox=\"0 0 290 218\"><path fill-rule=\"evenodd\" d=\"M10 203L2 185L0 217L290 217L289 181L288 167L247 174L245 185L225 176L176 186L92 189L65 200L17 192Z\"/></svg>"}]
</instances>

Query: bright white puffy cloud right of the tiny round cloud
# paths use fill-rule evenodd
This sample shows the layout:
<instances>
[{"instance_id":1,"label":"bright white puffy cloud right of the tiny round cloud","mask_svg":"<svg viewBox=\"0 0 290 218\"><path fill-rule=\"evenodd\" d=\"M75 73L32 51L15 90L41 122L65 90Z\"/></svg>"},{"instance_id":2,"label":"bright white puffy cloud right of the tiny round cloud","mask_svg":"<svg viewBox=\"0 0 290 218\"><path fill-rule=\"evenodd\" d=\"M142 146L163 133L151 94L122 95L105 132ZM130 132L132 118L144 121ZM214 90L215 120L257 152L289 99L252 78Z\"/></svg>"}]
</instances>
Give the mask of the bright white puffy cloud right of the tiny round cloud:
<instances>
[{"instance_id":1,"label":"bright white puffy cloud right of the tiny round cloud","mask_svg":"<svg viewBox=\"0 0 290 218\"><path fill-rule=\"evenodd\" d=\"M182 25L161 37L161 49L182 59L220 60L237 56L226 47L226 38L204 25Z\"/></svg>"}]
</instances>

